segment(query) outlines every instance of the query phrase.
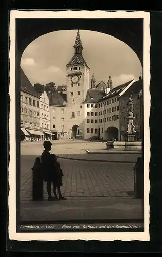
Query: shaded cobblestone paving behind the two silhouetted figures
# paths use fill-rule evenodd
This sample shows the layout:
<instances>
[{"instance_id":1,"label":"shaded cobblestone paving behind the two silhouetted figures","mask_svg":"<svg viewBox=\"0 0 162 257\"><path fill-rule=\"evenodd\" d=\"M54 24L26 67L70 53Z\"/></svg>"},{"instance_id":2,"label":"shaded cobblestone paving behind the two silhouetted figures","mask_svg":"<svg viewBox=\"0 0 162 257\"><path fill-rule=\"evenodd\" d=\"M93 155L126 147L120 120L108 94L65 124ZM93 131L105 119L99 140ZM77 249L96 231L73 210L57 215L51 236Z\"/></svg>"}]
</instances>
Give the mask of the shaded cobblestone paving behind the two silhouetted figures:
<instances>
[{"instance_id":1,"label":"shaded cobblestone paving behind the two silhouetted figures","mask_svg":"<svg viewBox=\"0 0 162 257\"><path fill-rule=\"evenodd\" d=\"M36 156L21 156L21 200L32 199L32 170ZM84 162L58 159L63 172L65 197L128 196L134 185L132 163ZM44 197L47 199L46 184Z\"/></svg>"}]
</instances>

